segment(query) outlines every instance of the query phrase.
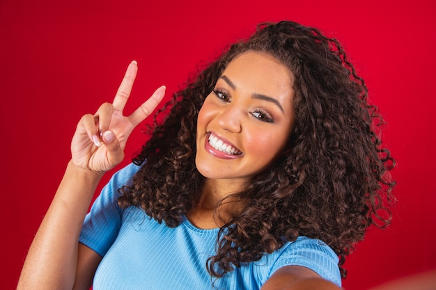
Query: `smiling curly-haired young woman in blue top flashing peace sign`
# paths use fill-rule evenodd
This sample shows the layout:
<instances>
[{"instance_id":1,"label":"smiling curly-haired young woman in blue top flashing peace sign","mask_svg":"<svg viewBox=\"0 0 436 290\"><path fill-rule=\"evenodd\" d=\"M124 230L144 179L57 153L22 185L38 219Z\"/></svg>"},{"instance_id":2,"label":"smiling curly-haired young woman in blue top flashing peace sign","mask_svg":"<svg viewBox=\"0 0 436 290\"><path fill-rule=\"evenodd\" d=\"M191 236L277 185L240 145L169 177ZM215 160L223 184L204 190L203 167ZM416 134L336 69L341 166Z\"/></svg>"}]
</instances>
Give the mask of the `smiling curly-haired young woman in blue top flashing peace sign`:
<instances>
[{"instance_id":1,"label":"smiling curly-haired young woman in blue top flashing peace sign","mask_svg":"<svg viewBox=\"0 0 436 290\"><path fill-rule=\"evenodd\" d=\"M136 73L77 125L18 289L338 289L345 255L389 223L394 186L382 120L338 42L260 25L176 92L86 215L164 96L123 116Z\"/></svg>"}]
</instances>

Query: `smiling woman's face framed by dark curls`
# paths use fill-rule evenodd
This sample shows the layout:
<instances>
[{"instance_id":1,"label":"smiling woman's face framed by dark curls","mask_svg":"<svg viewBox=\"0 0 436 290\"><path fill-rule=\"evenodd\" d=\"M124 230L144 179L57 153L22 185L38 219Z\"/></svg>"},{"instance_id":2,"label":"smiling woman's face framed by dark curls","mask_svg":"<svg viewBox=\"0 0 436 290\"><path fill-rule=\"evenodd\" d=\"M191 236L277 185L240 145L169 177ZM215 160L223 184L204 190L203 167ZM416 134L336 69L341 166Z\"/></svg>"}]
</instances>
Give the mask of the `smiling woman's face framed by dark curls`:
<instances>
[{"instance_id":1,"label":"smiling woman's face framed by dark curls","mask_svg":"<svg viewBox=\"0 0 436 290\"><path fill-rule=\"evenodd\" d=\"M270 54L234 58L198 113L198 171L244 182L270 166L293 124L292 87L293 74Z\"/></svg>"}]
</instances>

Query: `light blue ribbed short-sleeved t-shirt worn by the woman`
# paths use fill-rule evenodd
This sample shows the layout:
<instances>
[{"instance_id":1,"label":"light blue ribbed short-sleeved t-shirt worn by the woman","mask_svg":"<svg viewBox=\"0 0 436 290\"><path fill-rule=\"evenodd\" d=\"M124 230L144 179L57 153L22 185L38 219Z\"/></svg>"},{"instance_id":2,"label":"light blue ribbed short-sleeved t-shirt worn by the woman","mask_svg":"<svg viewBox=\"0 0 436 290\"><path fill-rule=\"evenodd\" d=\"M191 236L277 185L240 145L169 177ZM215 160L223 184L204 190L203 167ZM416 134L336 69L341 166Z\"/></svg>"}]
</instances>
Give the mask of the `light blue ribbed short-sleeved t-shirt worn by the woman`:
<instances>
[{"instance_id":1,"label":"light blue ribbed short-sleeved t-shirt worn by the woman","mask_svg":"<svg viewBox=\"0 0 436 290\"><path fill-rule=\"evenodd\" d=\"M94 290L260 289L274 271L287 265L310 268L341 286L333 250L304 236L222 278L211 277L206 260L215 255L219 229L198 229L187 218L171 228L137 207L118 207L118 188L137 170L139 167L131 164L118 171L86 216L79 241L103 257Z\"/></svg>"}]
</instances>

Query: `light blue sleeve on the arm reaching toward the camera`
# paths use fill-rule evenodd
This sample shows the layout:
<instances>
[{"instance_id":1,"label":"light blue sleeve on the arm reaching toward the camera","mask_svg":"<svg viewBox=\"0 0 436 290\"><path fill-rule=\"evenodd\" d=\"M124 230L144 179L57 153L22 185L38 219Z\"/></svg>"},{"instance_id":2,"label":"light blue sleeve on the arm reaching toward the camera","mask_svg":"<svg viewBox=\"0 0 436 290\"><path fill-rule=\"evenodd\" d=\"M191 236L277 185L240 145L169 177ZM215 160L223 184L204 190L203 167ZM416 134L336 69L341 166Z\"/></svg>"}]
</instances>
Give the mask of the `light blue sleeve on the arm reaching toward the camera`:
<instances>
[{"instance_id":1,"label":"light blue sleeve on the arm reaching toward the camera","mask_svg":"<svg viewBox=\"0 0 436 290\"><path fill-rule=\"evenodd\" d=\"M296 241L283 245L277 254L269 276L283 266L303 266L341 287L338 256L326 243L299 236Z\"/></svg>"}]
</instances>

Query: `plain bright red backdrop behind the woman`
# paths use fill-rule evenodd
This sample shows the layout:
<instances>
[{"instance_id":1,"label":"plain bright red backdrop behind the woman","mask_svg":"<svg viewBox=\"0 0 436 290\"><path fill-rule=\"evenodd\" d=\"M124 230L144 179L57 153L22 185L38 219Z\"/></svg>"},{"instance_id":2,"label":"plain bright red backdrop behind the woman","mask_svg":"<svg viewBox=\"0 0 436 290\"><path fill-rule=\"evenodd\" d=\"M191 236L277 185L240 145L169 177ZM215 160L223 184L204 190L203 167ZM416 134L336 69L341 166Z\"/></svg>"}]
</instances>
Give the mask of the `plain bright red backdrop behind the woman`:
<instances>
[{"instance_id":1,"label":"plain bright red backdrop behind the woman","mask_svg":"<svg viewBox=\"0 0 436 290\"><path fill-rule=\"evenodd\" d=\"M198 63L258 22L280 19L343 43L384 113L384 140L398 161L393 223L357 245L344 287L368 289L436 268L436 4L302 2L1 0L0 288L15 287L77 121L111 102L130 61L138 61L139 75L127 113L162 84L177 90ZM140 131L123 164L143 142Z\"/></svg>"}]
</instances>

